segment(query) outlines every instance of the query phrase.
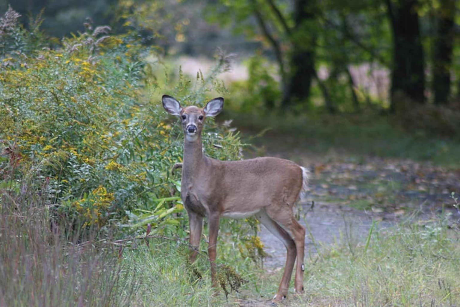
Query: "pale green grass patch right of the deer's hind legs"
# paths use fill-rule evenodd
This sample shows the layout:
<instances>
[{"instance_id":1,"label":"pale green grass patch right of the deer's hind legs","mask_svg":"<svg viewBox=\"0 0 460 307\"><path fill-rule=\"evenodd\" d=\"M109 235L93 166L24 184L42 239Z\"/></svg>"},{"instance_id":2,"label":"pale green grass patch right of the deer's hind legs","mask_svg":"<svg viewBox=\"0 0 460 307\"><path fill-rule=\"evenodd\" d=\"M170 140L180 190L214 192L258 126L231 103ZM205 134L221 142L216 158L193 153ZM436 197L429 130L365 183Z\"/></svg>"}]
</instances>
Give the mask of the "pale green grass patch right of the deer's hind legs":
<instances>
[{"instance_id":1,"label":"pale green grass patch right of the deer's hind legs","mask_svg":"<svg viewBox=\"0 0 460 307\"><path fill-rule=\"evenodd\" d=\"M458 306L459 238L458 229L435 220L374 232L367 249L332 247L311 267L311 299L327 297L334 306Z\"/></svg>"}]
</instances>

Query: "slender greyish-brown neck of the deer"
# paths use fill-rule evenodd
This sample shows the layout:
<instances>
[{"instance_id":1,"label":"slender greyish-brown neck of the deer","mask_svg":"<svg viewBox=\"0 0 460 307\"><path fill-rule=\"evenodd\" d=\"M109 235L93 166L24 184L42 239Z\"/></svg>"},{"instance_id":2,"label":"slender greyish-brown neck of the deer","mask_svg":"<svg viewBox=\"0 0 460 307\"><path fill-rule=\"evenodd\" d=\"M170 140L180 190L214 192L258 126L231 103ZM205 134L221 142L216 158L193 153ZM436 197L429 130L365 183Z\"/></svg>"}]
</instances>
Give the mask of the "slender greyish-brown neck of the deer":
<instances>
[{"instance_id":1,"label":"slender greyish-brown neck of the deer","mask_svg":"<svg viewBox=\"0 0 460 307\"><path fill-rule=\"evenodd\" d=\"M201 135L195 141L184 140L184 161L182 167L182 177L191 180L194 175L203 167L203 148L201 145Z\"/></svg>"}]
</instances>

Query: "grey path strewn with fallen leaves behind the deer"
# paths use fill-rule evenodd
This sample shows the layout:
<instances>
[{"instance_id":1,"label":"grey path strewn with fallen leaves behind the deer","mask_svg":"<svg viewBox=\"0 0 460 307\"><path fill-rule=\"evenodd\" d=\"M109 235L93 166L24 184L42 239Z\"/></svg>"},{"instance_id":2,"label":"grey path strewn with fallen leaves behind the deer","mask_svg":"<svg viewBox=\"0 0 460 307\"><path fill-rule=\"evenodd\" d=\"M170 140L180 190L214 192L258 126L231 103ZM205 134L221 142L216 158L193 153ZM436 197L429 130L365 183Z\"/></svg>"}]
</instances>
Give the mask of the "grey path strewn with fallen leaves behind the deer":
<instances>
[{"instance_id":1,"label":"grey path strewn with fallen leaves behind the deer","mask_svg":"<svg viewBox=\"0 0 460 307\"><path fill-rule=\"evenodd\" d=\"M293 158L279 153L271 156ZM306 257L322 244L364 244L373 220L376 227L385 228L409 215L427 219L443 211L460 219L450 197L452 191L460 194L460 170L381 158L323 162L322 158L297 156L295 160L310 165L311 170L310 193L299 204L303 211L300 222L310 229L305 239ZM261 228L259 235L270 255L264 266L268 271L280 270L286 249L265 227Z\"/></svg>"}]
</instances>

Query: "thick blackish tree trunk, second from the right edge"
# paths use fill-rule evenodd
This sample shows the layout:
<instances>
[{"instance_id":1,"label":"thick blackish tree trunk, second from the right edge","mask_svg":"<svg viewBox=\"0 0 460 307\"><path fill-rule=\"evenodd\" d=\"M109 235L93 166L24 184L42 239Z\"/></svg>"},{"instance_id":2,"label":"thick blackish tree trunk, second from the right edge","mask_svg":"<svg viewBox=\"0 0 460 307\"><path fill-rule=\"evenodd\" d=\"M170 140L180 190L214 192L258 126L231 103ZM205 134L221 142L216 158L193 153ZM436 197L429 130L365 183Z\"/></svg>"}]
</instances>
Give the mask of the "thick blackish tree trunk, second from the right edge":
<instances>
[{"instance_id":1,"label":"thick blackish tree trunk, second from the right edge","mask_svg":"<svg viewBox=\"0 0 460 307\"><path fill-rule=\"evenodd\" d=\"M425 102L425 62L417 0L386 0L393 30L391 111L400 100Z\"/></svg>"}]
</instances>

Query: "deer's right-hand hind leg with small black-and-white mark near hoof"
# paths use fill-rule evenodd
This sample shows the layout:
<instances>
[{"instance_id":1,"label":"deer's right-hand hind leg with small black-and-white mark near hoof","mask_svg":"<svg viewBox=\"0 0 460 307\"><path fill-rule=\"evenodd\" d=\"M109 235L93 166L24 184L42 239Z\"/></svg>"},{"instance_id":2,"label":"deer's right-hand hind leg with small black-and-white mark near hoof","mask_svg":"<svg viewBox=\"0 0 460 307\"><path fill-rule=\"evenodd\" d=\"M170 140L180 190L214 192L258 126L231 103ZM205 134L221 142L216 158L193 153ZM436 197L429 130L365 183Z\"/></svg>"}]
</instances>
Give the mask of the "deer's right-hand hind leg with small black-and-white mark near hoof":
<instances>
[{"instance_id":1,"label":"deer's right-hand hind leg with small black-and-white mark near hoof","mask_svg":"<svg viewBox=\"0 0 460 307\"><path fill-rule=\"evenodd\" d=\"M305 254L305 227L300 225L294 218L293 209L275 210L275 207L267 208L269 217L288 230L293 237L293 242L296 247L297 265L295 270L294 288L296 293L304 292L304 254ZM270 210L271 209L271 210ZM295 257L294 257L295 258Z\"/></svg>"}]
</instances>

